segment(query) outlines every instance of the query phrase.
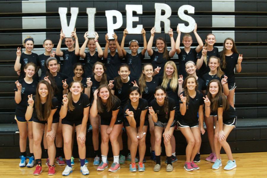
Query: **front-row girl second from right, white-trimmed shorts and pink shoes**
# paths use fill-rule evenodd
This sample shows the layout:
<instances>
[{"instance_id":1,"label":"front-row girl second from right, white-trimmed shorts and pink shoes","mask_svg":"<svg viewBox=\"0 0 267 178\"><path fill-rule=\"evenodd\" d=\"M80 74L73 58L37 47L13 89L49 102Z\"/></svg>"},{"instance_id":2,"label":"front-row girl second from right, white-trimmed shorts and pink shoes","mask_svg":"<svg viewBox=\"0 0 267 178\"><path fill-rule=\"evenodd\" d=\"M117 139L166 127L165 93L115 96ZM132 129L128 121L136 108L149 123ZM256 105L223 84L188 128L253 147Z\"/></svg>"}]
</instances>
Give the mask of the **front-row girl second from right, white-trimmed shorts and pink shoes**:
<instances>
[{"instance_id":1,"label":"front-row girl second from right, white-trimmed shorts and pink shoes","mask_svg":"<svg viewBox=\"0 0 267 178\"><path fill-rule=\"evenodd\" d=\"M178 113L178 124L180 131L187 141L185 170L193 171L199 167L193 162L198 148L201 144L201 134L205 133L203 128L203 94L198 90L198 82L195 77L185 78L184 91L180 94L180 112ZM210 105L210 104L209 104ZM205 104L206 107L209 105ZM205 110L206 111L206 110ZM198 117L199 122L198 122ZM200 128L198 128L200 127Z\"/></svg>"}]
</instances>

